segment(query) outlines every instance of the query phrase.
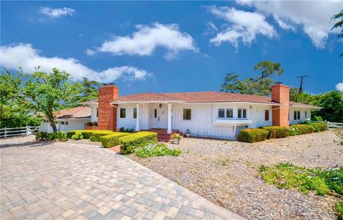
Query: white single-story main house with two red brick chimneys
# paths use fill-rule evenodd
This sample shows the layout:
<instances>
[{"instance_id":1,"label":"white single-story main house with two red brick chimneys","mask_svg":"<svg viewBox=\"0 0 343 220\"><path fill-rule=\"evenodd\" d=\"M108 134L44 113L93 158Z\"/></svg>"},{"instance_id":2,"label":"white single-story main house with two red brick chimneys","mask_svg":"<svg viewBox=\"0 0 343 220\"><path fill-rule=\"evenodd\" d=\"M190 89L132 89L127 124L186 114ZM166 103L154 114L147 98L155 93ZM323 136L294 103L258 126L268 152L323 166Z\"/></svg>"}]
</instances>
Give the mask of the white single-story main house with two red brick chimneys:
<instances>
[{"instance_id":1,"label":"white single-story main house with two red brick chimneys","mask_svg":"<svg viewBox=\"0 0 343 220\"><path fill-rule=\"evenodd\" d=\"M119 97L113 83L99 87L91 122L99 130L162 128L189 131L192 136L234 139L239 130L265 125L288 127L311 117L318 107L289 101L289 87L272 86L272 96L222 92L138 93Z\"/></svg>"}]
</instances>

